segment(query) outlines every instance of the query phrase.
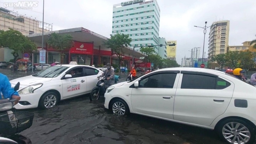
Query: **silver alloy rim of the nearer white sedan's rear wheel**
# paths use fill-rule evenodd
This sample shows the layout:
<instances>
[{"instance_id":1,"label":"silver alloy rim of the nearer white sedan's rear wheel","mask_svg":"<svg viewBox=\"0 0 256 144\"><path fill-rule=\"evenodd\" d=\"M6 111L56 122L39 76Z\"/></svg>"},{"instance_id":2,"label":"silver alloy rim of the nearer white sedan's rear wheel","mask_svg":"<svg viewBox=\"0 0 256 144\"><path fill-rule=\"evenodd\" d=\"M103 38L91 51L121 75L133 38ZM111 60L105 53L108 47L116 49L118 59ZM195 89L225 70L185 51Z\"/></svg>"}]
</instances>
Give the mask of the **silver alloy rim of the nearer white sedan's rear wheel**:
<instances>
[{"instance_id":1,"label":"silver alloy rim of the nearer white sedan's rear wheel","mask_svg":"<svg viewBox=\"0 0 256 144\"><path fill-rule=\"evenodd\" d=\"M250 130L239 122L229 122L222 128L223 137L231 144L246 144L251 138Z\"/></svg>"}]
</instances>

